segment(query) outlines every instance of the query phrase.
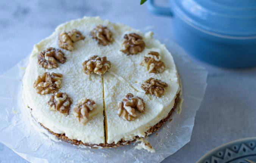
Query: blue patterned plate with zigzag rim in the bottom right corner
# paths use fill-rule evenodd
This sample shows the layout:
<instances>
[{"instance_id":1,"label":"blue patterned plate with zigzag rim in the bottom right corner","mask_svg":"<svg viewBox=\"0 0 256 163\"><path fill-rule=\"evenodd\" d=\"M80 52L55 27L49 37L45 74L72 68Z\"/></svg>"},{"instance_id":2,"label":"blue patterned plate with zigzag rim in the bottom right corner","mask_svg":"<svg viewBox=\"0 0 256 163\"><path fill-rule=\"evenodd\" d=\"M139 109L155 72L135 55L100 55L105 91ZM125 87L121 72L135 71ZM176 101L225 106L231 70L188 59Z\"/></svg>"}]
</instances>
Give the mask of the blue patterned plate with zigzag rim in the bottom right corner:
<instances>
[{"instance_id":1,"label":"blue patterned plate with zigzag rim in the bottom right corner","mask_svg":"<svg viewBox=\"0 0 256 163\"><path fill-rule=\"evenodd\" d=\"M205 154L197 163L256 163L256 137L223 144Z\"/></svg>"}]
</instances>

